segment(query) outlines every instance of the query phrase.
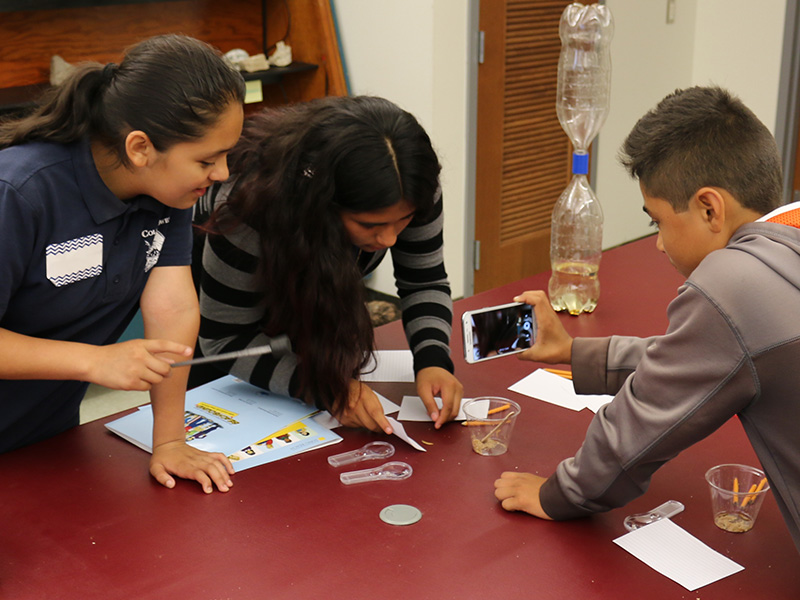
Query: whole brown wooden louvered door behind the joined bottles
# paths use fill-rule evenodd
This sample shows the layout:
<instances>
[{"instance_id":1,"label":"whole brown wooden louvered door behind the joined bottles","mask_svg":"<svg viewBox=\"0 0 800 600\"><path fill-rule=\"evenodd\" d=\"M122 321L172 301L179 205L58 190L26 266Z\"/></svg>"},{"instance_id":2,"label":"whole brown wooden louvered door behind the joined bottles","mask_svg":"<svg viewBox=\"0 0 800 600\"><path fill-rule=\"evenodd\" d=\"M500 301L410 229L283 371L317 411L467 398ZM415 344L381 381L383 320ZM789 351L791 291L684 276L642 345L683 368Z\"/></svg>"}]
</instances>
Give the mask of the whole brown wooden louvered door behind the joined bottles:
<instances>
[{"instance_id":1,"label":"whole brown wooden louvered door behind the joined bottles","mask_svg":"<svg viewBox=\"0 0 800 600\"><path fill-rule=\"evenodd\" d=\"M480 3L475 292L550 268L550 215L571 177L556 116L567 0Z\"/></svg>"}]
</instances>

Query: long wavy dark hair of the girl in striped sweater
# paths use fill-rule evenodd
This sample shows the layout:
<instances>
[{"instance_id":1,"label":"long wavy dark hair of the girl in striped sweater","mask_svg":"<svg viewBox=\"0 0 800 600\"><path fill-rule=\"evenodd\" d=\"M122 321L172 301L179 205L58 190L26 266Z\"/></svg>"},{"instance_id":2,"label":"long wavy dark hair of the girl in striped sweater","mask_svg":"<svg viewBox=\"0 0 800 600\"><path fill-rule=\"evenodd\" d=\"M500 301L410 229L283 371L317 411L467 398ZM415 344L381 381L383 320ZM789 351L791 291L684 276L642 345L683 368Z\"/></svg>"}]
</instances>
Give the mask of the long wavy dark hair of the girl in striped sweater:
<instances>
[{"instance_id":1,"label":"long wavy dark hair of the girl in striped sweater","mask_svg":"<svg viewBox=\"0 0 800 600\"><path fill-rule=\"evenodd\" d=\"M211 227L260 234L264 332L289 335L301 394L339 414L374 346L341 215L405 200L424 219L439 186L430 138L388 100L328 97L248 118L229 164L237 183Z\"/></svg>"}]
</instances>

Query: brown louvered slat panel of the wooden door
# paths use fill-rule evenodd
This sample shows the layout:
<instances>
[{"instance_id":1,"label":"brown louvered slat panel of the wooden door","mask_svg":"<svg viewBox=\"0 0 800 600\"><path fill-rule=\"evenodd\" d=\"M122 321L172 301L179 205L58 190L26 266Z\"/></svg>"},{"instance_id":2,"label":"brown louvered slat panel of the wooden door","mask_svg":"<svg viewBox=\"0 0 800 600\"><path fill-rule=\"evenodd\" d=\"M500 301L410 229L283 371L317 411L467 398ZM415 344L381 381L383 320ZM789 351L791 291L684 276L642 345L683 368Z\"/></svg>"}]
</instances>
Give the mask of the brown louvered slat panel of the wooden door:
<instances>
[{"instance_id":1,"label":"brown louvered slat panel of the wooden door","mask_svg":"<svg viewBox=\"0 0 800 600\"><path fill-rule=\"evenodd\" d=\"M569 182L569 139L555 109L558 22L567 4L508 0L501 244L548 230Z\"/></svg>"}]
</instances>

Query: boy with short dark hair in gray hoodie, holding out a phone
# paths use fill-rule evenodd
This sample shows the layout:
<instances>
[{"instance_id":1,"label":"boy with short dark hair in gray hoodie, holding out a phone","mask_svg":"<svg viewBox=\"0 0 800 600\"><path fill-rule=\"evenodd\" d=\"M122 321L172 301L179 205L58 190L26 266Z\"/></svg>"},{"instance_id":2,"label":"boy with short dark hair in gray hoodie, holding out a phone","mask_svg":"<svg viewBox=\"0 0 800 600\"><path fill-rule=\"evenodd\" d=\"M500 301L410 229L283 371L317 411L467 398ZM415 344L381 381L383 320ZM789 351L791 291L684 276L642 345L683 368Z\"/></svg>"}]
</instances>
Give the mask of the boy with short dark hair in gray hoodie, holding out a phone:
<instances>
[{"instance_id":1,"label":"boy with short dark hair in gray hoodie, holding out a phone","mask_svg":"<svg viewBox=\"0 0 800 600\"><path fill-rule=\"evenodd\" d=\"M738 416L800 550L800 203L780 207L775 140L739 99L694 87L639 120L621 161L686 283L647 339L573 340L544 292L514 299L539 326L520 358L571 363L576 392L615 397L553 475L503 473L495 496L555 520L620 507Z\"/></svg>"}]
</instances>

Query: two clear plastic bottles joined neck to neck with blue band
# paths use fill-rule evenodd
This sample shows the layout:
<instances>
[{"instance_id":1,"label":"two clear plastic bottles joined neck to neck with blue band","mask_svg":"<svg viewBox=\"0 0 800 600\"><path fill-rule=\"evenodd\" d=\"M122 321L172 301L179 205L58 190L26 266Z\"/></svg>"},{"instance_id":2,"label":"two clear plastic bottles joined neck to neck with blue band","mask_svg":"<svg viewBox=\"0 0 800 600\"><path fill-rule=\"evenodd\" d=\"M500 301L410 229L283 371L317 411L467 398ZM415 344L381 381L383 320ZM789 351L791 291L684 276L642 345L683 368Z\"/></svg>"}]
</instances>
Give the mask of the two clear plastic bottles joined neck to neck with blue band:
<instances>
[{"instance_id":1,"label":"two clear plastic bottles joined neck to neck with blue band","mask_svg":"<svg viewBox=\"0 0 800 600\"><path fill-rule=\"evenodd\" d=\"M559 25L556 113L575 150L572 181L553 207L550 238L554 310L592 312L600 297L597 273L603 247L603 209L589 185L589 146L608 115L611 93L611 12L577 2L564 9Z\"/></svg>"}]
</instances>

